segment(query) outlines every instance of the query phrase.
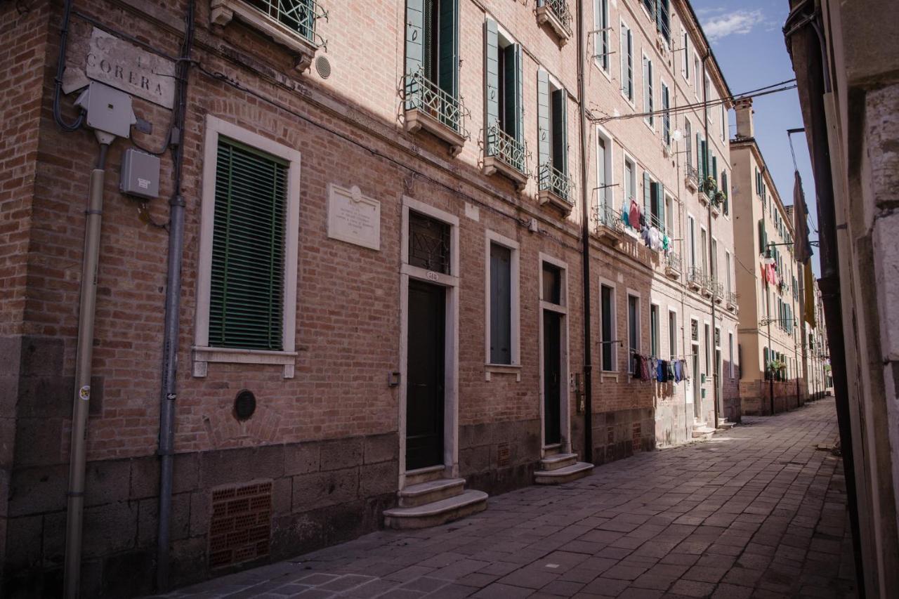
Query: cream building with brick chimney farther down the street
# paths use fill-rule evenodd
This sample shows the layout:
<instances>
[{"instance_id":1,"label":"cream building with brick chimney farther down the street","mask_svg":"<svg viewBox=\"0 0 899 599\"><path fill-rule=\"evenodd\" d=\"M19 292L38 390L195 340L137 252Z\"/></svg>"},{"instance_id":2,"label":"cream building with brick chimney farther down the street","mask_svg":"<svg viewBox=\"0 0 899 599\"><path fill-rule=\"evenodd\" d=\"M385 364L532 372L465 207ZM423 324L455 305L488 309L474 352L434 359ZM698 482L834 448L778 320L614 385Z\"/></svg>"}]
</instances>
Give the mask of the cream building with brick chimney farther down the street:
<instances>
[{"instance_id":1,"label":"cream building with brick chimney farther down the street","mask_svg":"<svg viewBox=\"0 0 899 599\"><path fill-rule=\"evenodd\" d=\"M740 398L745 414L771 414L805 401L803 318L793 219L785 209L753 135L752 100L738 101L734 167L734 235L741 298ZM769 275L769 272L772 272Z\"/></svg>"}]
</instances>

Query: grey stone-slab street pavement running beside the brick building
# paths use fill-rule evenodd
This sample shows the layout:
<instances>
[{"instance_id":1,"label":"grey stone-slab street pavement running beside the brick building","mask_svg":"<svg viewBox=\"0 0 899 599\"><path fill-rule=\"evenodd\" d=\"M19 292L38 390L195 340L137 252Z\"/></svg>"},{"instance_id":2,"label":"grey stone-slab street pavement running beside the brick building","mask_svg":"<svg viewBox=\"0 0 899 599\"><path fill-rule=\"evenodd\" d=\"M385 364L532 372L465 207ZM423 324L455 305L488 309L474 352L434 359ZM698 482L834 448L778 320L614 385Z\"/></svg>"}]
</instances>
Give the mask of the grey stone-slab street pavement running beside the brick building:
<instances>
[{"instance_id":1,"label":"grey stone-slab street pavement running beside the brick building","mask_svg":"<svg viewBox=\"0 0 899 599\"><path fill-rule=\"evenodd\" d=\"M832 399L165 597L855 597Z\"/></svg>"}]
</instances>

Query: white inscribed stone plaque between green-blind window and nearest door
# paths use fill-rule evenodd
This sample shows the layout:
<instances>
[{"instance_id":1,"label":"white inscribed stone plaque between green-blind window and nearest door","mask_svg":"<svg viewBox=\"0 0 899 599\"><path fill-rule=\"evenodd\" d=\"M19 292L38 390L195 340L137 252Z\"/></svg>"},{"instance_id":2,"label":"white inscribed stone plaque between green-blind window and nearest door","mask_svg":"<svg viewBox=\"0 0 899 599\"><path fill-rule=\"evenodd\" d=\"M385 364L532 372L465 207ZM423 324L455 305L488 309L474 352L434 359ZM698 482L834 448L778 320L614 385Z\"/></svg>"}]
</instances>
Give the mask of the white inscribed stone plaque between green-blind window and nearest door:
<instances>
[{"instance_id":1,"label":"white inscribed stone plaque between green-blind window and nearest door","mask_svg":"<svg viewBox=\"0 0 899 599\"><path fill-rule=\"evenodd\" d=\"M381 202L368 198L353 185L328 186L328 237L357 246L381 248Z\"/></svg>"}]
</instances>

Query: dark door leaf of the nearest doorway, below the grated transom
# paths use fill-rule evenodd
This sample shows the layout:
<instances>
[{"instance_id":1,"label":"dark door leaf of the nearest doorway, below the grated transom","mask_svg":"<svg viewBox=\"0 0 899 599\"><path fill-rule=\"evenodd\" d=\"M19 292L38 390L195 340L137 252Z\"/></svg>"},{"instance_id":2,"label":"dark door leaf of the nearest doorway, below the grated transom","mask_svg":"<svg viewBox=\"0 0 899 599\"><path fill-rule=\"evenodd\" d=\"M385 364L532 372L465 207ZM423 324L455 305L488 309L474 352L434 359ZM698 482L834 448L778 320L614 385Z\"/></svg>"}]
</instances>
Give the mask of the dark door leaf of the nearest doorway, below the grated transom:
<instances>
[{"instance_id":1,"label":"dark door leaf of the nearest doorway, below the grated transom","mask_svg":"<svg viewBox=\"0 0 899 599\"><path fill-rule=\"evenodd\" d=\"M446 291L409 281L405 395L405 468L443 463Z\"/></svg>"}]
</instances>

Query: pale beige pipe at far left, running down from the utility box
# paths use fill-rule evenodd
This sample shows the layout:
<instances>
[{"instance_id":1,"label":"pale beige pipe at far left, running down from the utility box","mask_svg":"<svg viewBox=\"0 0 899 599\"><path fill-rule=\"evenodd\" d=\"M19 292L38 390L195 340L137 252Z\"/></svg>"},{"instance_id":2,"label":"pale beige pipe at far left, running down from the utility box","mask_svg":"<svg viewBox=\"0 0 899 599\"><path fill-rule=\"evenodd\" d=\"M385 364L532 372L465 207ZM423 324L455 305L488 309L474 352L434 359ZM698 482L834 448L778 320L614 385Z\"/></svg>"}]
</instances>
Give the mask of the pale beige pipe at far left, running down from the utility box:
<instances>
[{"instance_id":1,"label":"pale beige pipe at far left, running down from the utility box","mask_svg":"<svg viewBox=\"0 0 899 599\"><path fill-rule=\"evenodd\" d=\"M68 501L66 520L66 564L64 571L67 599L75 599L81 586L81 535L85 509L85 453L87 450L87 412L91 401L91 359L93 322L97 300L97 266L100 263L100 225L103 210L103 183L106 152L114 139L96 131L100 155L91 172L85 210L85 252L81 265L81 303L78 314L78 347L75 359L75 398L72 408L72 446L69 451Z\"/></svg>"}]
</instances>

